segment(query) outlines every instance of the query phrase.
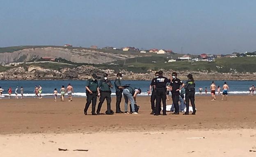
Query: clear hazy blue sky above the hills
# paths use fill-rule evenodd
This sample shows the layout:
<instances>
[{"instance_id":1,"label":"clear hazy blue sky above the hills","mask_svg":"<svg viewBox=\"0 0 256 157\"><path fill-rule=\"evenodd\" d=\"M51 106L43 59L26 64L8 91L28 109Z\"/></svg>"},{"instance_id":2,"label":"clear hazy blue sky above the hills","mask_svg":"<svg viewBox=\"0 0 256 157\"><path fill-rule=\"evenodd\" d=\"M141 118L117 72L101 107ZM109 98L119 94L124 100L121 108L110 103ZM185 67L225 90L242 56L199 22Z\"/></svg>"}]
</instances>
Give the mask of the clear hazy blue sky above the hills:
<instances>
[{"instance_id":1,"label":"clear hazy blue sky above the hills","mask_svg":"<svg viewBox=\"0 0 256 157\"><path fill-rule=\"evenodd\" d=\"M256 0L0 0L0 47L256 51Z\"/></svg>"}]
</instances>

